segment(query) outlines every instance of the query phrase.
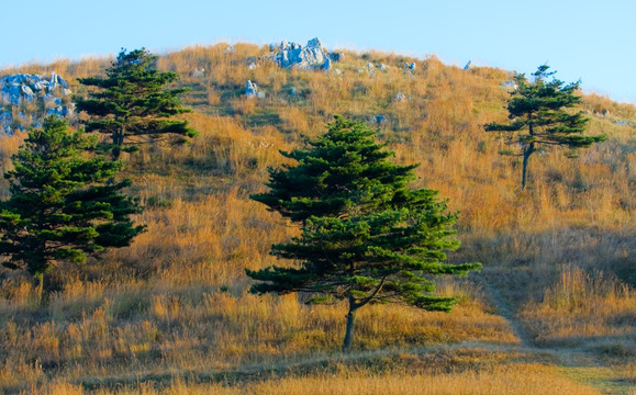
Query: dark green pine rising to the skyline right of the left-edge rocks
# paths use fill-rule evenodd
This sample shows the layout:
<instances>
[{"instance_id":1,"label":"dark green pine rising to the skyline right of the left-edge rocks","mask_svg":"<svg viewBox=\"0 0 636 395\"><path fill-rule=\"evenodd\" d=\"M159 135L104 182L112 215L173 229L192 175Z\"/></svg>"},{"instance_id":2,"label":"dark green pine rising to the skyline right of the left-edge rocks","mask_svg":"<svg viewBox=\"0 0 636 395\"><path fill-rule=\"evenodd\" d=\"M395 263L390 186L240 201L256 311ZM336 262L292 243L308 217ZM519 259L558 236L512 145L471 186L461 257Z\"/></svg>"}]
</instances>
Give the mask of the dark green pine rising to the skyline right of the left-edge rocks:
<instances>
[{"instance_id":1,"label":"dark green pine rising to the skyline right of the left-edge rocks","mask_svg":"<svg viewBox=\"0 0 636 395\"><path fill-rule=\"evenodd\" d=\"M91 116L86 129L109 135L115 159L124 145L126 150L136 150L137 144L147 139L197 135L187 121L170 120L191 110L185 109L178 98L186 89L166 89L178 76L158 71L153 66L156 58L144 48L130 53L122 49L107 70L107 78L79 79L85 86L98 88L90 99L76 98L78 110Z\"/></svg>"}]
</instances>

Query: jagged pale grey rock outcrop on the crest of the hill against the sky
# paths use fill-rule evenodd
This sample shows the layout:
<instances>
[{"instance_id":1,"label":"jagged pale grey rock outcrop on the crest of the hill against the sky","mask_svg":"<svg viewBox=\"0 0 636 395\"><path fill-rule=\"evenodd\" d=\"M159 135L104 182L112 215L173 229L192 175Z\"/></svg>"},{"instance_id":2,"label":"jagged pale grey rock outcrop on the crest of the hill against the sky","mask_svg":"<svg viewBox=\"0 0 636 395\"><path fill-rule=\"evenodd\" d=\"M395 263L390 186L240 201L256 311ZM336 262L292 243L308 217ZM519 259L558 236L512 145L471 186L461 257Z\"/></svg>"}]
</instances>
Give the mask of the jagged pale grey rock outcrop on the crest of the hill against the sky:
<instances>
[{"instance_id":1,"label":"jagged pale grey rock outcrop on the crest of the hill against the sky","mask_svg":"<svg viewBox=\"0 0 636 395\"><path fill-rule=\"evenodd\" d=\"M270 45L271 50L278 50L274 55L274 61L284 68L298 67L300 69L324 69L332 67L332 61L338 61L341 54L330 54L321 41L316 37L310 40L306 46L283 41L279 45Z\"/></svg>"}]
</instances>

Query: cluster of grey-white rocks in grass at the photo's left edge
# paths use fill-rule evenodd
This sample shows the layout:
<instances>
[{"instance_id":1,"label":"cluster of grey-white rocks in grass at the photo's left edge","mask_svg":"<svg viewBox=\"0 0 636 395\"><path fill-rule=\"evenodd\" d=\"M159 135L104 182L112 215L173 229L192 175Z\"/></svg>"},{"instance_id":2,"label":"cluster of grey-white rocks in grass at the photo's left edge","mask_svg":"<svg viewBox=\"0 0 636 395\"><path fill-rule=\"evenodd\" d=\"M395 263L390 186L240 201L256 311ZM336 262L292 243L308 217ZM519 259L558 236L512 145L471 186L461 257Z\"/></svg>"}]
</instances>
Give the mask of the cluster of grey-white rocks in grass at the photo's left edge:
<instances>
[{"instance_id":1,"label":"cluster of grey-white rocks in grass at the photo's left edge","mask_svg":"<svg viewBox=\"0 0 636 395\"><path fill-rule=\"evenodd\" d=\"M72 115L75 104L64 99L70 93L68 82L55 71L49 76L18 74L0 78L0 133L11 135L15 129L37 127L48 115ZM29 111L24 110L26 105Z\"/></svg>"}]
</instances>

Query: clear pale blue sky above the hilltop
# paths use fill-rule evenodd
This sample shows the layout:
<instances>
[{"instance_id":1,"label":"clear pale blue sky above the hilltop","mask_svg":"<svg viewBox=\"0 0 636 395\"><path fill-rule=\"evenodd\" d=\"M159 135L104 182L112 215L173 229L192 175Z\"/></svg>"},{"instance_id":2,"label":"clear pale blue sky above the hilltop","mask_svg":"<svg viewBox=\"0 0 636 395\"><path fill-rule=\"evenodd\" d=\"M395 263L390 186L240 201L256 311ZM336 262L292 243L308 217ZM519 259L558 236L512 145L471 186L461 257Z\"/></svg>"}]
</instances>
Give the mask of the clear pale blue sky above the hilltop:
<instances>
[{"instance_id":1,"label":"clear pale blue sky above the hilltop","mask_svg":"<svg viewBox=\"0 0 636 395\"><path fill-rule=\"evenodd\" d=\"M27 4L27 5L24 5ZM1 7L0 67L217 42L379 49L531 74L636 103L635 0L18 0Z\"/></svg>"}]
</instances>

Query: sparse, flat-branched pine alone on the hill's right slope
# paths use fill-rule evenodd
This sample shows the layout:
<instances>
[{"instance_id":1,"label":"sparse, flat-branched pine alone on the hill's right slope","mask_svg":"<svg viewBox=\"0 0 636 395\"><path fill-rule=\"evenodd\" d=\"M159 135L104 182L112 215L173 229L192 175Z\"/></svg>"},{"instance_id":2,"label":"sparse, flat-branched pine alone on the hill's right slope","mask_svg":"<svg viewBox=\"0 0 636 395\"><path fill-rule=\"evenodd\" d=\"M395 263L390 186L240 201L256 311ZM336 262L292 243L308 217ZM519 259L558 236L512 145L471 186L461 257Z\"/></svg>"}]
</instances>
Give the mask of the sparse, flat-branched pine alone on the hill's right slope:
<instances>
[{"instance_id":1,"label":"sparse, flat-branched pine alone on the hill's right slope","mask_svg":"<svg viewBox=\"0 0 636 395\"><path fill-rule=\"evenodd\" d=\"M521 151L506 149L501 154L523 157L522 190L526 185L529 157L543 146L566 146L574 150L605 140L605 135L582 136L589 120L582 111L567 111L581 102L581 98L574 94L580 82L566 84L554 77L547 81L555 74L548 69L547 65L539 66L533 74L535 80L532 83L525 75L516 75L517 88L507 102L512 122L484 126L487 132L509 133L506 144L521 148Z\"/></svg>"}]
</instances>

